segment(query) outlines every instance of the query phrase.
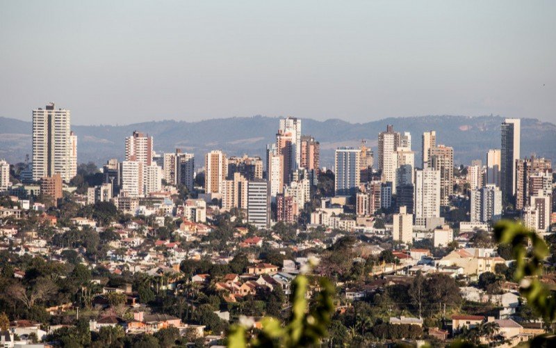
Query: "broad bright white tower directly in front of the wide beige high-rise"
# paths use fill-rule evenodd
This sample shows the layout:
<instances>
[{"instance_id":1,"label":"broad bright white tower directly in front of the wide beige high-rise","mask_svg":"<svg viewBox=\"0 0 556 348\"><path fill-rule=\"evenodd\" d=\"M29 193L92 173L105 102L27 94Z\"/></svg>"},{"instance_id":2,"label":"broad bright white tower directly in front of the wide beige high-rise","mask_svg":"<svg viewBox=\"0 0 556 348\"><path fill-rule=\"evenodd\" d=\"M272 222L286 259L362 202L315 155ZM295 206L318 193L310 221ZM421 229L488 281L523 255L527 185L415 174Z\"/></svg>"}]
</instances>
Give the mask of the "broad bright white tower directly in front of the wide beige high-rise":
<instances>
[{"instance_id":1,"label":"broad bright white tower directly in front of the wide beige high-rise","mask_svg":"<svg viewBox=\"0 0 556 348\"><path fill-rule=\"evenodd\" d=\"M440 171L423 168L415 171L415 224L424 226L427 218L440 217Z\"/></svg>"}]
</instances>

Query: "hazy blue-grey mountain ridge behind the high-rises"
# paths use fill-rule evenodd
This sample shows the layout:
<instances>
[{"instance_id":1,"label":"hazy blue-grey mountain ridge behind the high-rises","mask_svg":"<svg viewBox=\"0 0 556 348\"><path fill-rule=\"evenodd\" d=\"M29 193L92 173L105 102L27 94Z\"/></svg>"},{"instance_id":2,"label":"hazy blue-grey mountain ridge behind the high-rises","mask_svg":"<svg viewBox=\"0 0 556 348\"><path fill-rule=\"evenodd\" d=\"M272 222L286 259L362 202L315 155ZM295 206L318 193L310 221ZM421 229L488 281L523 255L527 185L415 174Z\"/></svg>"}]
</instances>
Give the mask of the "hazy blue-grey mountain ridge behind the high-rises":
<instances>
[{"instance_id":1,"label":"hazy blue-grey mountain ridge behind the high-rises","mask_svg":"<svg viewBox=\"0 0 556 348\"><path fill-rule=\"evenodd\" d=\"M302 118L302 133L320 141L321 165L334 165L334 149L338 146L358 146L362 139L375 151L378 133L386 125L397 132L411 133L411 148L420 166L421 134L436 130L437 143L454 147L455 162L468 164L473 159L486 161L486 151L500 148L500 116L416 116L384 118L365 123L343 120L325 121ZM134 130L154 137L156 152L173 152L181 148L195 153L197 167L204 165L204 155L221 149L228 155L259 155L264 157L266 144L275 141L279 118L265 116L234 117L186 122L163 120L132 125L72 126L78 136L79 163L94 161L97 165L107 159L124 156L124 138ZM533 118L521 119L521 156L532 153L556 159L556 125ZM31 156L31 122L0 117L0 159L10 163Z\"/></svg>"}]
</instances>

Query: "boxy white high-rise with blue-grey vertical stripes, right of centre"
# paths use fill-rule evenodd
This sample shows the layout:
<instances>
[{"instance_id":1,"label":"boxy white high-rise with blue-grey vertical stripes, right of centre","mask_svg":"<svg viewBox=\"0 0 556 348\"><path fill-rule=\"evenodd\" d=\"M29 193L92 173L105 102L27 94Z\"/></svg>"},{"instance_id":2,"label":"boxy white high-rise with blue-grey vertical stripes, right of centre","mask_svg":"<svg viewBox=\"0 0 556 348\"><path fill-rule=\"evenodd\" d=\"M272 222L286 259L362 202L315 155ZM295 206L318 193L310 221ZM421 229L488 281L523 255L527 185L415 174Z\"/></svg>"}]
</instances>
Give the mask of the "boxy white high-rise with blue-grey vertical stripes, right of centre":
<instances>
[{"instance_id":1,"label":"boxy white high-rise with blue-grey vertical stripes, right of centre","mask_svg":"<svg viewBox=\"0 0 556 348\"><path fill-rule=\"evenodd\" d=\"M334 155L334 192L336 196L349 196L357 191L360 182L361 151L338 148Z\"/></svg>"}]
</instances>

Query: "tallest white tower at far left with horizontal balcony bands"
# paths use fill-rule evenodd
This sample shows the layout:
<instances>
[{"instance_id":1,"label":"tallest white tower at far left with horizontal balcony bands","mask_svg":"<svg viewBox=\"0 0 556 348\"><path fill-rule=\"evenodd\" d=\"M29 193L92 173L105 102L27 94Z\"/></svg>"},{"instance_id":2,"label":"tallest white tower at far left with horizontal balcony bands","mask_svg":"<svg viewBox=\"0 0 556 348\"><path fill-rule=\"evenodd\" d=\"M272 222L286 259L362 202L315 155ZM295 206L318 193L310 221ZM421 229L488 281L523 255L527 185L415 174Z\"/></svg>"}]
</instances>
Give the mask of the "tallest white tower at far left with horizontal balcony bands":
<instances>
[{"instance_id":1,"label":"tallest white tower at far left with horizontal balcony bands","mask_svg":"<svg viewBox=\"0 0 556 348\"><path fill-rule=\"evenodd\" d=\"M70 110L33 110L33 180L59 173L62 180L72 180L72 139Z\"/></svg>"}]
</instances>

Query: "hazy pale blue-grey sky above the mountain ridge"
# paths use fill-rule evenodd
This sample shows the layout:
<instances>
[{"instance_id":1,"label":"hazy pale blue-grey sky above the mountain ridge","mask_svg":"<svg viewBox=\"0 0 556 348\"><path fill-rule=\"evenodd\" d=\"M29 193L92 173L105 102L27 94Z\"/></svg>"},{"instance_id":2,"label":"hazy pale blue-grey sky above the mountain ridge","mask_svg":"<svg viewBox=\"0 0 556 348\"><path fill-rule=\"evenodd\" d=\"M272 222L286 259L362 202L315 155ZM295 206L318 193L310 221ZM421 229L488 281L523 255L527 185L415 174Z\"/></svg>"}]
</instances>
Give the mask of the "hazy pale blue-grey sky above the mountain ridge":
<instances>
[{"instance_id":1,"label":"hazy pale blue-grey sky above the mountain ridge","mask_svg":"<svg viewBox=\"0 0 556 348\"><path fill-rule=\"evenodd\" d=\"M556 122L556 1L3 1L0 116Z\"/></svg>"}]
</instances>

